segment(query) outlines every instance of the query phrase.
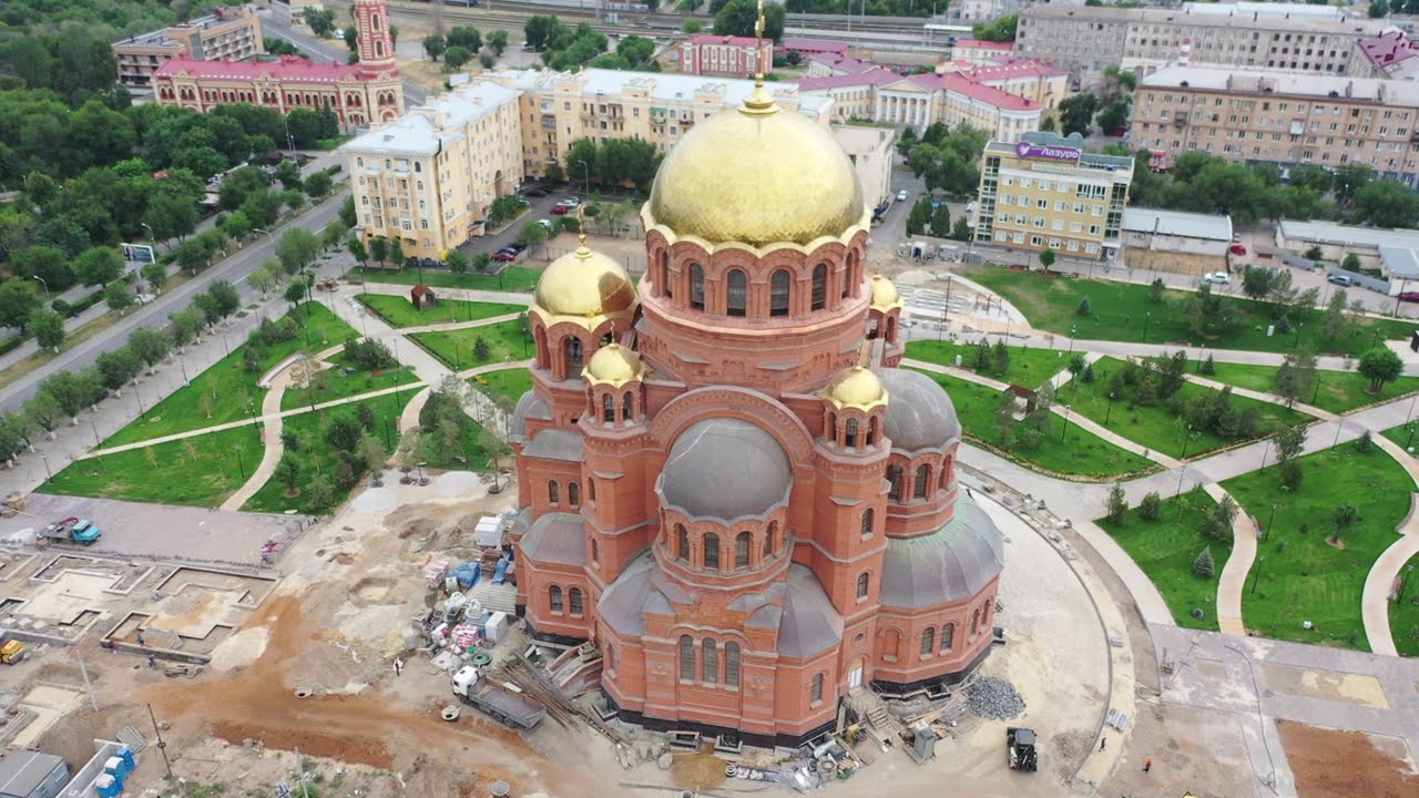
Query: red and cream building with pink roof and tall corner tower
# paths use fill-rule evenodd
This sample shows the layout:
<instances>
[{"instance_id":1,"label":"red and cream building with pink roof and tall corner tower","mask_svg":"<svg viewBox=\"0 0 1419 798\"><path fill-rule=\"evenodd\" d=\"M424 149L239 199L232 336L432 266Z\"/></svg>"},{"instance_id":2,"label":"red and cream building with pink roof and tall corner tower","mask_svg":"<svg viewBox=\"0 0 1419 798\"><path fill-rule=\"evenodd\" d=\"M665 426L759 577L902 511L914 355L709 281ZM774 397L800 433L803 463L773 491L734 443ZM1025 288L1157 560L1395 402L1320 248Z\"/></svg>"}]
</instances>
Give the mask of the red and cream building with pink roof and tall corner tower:
<instances>
[{"instance_id":1,"label":"red and cream building with pink roof and tall corner tower","mask_svg":"<svg viewBox=\"0 0 1419 798\"><path fill-rule=\"evenodd\" d=\"M295 108L329 111L342 131L397 119L404 91L394 64L389 13L383 0L356 0L358 64L314 64L295 55L278 61L199 61L172 58L153 72L160 105L207 112L248 102L288 114Z\"/></svg>"}]
</instances>

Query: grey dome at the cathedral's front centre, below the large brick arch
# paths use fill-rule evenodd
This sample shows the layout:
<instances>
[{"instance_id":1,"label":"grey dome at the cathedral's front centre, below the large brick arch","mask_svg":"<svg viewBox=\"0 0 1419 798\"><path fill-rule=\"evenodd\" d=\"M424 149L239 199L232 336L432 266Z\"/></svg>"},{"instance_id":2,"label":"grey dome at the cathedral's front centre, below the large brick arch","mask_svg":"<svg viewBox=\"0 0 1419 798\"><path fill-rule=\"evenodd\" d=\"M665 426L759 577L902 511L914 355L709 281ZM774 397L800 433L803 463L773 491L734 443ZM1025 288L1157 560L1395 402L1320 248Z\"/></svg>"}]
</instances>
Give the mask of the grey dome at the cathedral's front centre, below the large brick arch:
<instances>
[{"instance_id":1,"label":"grey dome at the cathedral's front centre, below the large brick arch","mask_svg":"<svg viewBox=\"0 0 1419 798\"><path fill-rule=\"evenodd\" d=\"M670 447L657 490L690 515L734 521L765 515L792 484L789 457L772 434L739 419L705 419Z\"/></svg>"}]
</instances>

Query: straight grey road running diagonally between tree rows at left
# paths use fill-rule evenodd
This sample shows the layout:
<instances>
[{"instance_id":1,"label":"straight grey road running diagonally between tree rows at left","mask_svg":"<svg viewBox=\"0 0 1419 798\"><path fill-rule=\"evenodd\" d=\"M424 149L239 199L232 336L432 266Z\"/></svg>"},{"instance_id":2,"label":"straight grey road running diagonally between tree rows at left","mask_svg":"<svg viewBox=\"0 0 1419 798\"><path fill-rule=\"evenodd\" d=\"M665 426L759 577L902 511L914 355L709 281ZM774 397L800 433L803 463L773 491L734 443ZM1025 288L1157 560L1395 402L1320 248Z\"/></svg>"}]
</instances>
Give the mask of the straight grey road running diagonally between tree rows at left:
<instances>
[{"instance_id":1,"label":"straight grey road running diagonally between tree rows at left","mask_svg":"<svg viewBox=\"0 0 1419 798\"><path fill-rule=\"evenodd\" d=\"M26 399L34 395L35 386L57 371L79 371L94 365L101 352L116 348L135 329L167 324L169 315L187 307L193 297L206 291L217 280L226 280L236 285L241 293L243 304L250 302L258 297L258 293L245 284L245 278L261 261L275 257L275 244L281 239L281 233L291 227L304 227L312 233L319 233L339 214L341 204L343 204L346 196L349 196L349 189L341 189L302 216L272 229L265 239L251 241L240 253L163 294L159 301L138 308L108 329L72 349L64 351L53 361L11 382L4 389L0 389L0 410L17 410Z\"/></svg>"}]
</instances>

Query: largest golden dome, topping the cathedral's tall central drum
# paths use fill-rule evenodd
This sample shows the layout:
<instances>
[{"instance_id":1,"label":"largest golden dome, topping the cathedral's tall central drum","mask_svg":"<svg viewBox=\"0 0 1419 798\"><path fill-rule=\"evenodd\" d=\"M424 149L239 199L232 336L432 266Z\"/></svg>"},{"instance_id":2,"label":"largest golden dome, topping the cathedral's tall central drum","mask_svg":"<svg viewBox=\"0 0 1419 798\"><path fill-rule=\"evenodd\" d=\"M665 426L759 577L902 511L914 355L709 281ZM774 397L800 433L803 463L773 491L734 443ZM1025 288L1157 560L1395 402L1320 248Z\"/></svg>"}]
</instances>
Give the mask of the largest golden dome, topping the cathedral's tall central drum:
<instances>
[{"instance_id":1,"label":"largest golden dome, topping the cathedral's tall central drum","mask_svg":"<svg viewBox=\"0 0 1419 798\"><path fill-rule=\"evenodd\" d=\"M714 244L836 239L864 223L866 209L827 126L775 106L762 88L685 133L650 192L656 223Z\"/></svg>"}]
</instances>

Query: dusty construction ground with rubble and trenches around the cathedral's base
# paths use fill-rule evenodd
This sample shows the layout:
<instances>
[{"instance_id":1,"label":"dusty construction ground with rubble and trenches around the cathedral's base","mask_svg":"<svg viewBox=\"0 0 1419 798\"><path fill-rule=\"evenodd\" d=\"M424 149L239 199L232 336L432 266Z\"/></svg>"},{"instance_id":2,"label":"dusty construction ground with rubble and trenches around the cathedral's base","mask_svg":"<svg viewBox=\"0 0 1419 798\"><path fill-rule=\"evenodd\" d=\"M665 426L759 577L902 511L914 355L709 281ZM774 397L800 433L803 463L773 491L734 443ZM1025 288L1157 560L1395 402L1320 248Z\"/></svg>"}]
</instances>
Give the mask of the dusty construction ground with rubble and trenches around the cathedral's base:
<instances>
[{"instance_id":1,"label":"dusty construction ground with rubble and trenches around the cathedral's base","mask_svg":"<svg viewBox=\"0 0 1419 798\"><path fill-rule=\"evenodd\" d=\"M258 527L251 564L182 548L125 555L133 532L114 524L102 550L40 548L26 532L40 515L11 514L0 632L23 650L0 666L0 740L70 763L75 797L104 794L92 784L105 763L122 770L123 750L136 754L123 794L150 797L853 795L942 780L982 797L1413 794L1413 731L1399 728L1412 716L1391 718L1393 736L1340 741L1284 720L1254 728L1256 703L1205 684L1227 679L1206 643L1164 667L1149 630L1115 603L1117 578L1049 508L985 474L964 483L1006 535L1002 642L949 692L851 690L837 724L799 748L617 718L595 646L524 635L507 562L514 498L490 494L488 477L370 487L318 524L245 515ZM51 501L33 498L31 510ZM1166 670L1179 676L1165 682ZM1264 679L1403 714L1381 677L1305 670L1279 663ZM1283 763L1294 751L1303 763L1368 757L1372 781L1307 785L1318 771L1296 768L1273 792L1249 751L1273 738ZM1145 757L1152 772L1137 764Z\"/></svg>"}]
</instances>

